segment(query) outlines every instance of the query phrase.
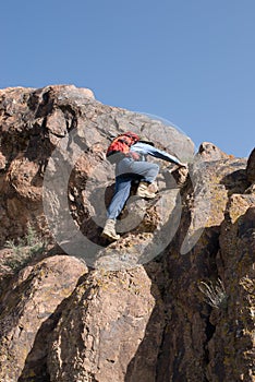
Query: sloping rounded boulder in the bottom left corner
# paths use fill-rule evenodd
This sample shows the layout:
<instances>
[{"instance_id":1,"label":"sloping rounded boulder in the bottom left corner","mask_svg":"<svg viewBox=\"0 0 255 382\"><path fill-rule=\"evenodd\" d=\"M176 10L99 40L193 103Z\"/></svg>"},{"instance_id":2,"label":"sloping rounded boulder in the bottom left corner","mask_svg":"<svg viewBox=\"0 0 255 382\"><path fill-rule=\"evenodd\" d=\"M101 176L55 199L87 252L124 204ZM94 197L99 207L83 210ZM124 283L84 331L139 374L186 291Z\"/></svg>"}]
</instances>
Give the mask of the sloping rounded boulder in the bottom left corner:
<instances>
[{"instance_id":1,"label":"sloping rounded boulder in the bottom left corner","mask_svg":"<svg viewBox=\"0 0 255 382\"><path fill-rule=\"evenodd\" d=\"M86 266L59 255L27 266L0 299L0 380L46 382L47 342L58 321L58 307L68 298Z\"/></svg>"}]
</instances>

